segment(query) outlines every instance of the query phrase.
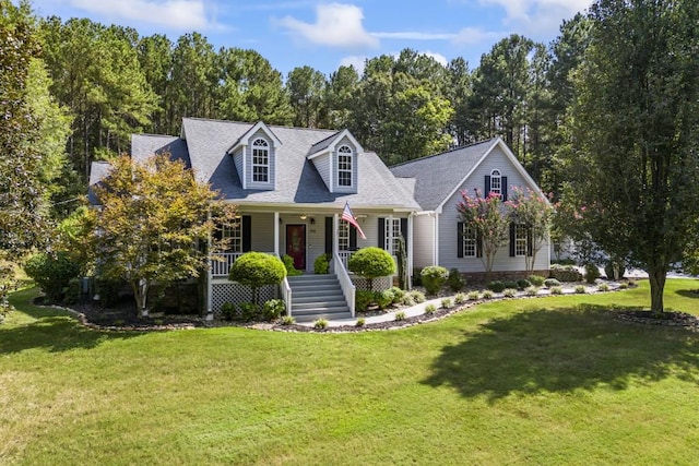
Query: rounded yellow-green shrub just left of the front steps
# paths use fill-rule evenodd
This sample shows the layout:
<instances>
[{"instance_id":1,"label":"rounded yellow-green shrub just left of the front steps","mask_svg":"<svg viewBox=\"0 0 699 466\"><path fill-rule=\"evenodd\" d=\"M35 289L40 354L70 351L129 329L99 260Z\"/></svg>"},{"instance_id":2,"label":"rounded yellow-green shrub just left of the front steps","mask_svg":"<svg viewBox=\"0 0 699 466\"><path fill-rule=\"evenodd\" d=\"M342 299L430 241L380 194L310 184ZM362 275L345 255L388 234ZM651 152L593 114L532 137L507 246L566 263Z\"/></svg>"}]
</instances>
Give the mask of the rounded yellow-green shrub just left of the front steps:
<instances>
[{"instance_id":1,"label":"rounded yellow-green shrub just left of the front steps","mask_svg":"<svg viewBox=\"0 0 699 466\"><path fill-rule=\"evenodd\" d=\"M279 285L286 277L286 267L276 255L246 252L230 266L228 278L252 289L252 301L260 303L260 288Z\"/></svg>"}]
</instances>

